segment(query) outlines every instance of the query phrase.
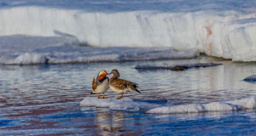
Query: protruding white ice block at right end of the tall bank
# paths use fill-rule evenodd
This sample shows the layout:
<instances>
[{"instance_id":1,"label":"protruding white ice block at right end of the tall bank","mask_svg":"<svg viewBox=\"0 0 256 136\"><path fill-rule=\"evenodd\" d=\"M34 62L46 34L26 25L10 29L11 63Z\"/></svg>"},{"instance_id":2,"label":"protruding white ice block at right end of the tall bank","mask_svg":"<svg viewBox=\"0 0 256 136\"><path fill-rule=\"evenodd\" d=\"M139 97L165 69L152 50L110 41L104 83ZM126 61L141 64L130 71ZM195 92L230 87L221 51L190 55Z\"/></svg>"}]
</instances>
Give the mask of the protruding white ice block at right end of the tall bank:
<instances>
[{"instance_id":1,"label":"protruding white ice block at right end of the tall bank","mask_svg":"<svg viewBox=\"0 0 256 136\"><path fill-rule=\"evenodd\" d=\"M242 19L219 22L212 26L212 40L208 42L212 48L207 54L236 61L255 61L255 31L255 14L247 14Z\"/></svg>"}]
</instances>

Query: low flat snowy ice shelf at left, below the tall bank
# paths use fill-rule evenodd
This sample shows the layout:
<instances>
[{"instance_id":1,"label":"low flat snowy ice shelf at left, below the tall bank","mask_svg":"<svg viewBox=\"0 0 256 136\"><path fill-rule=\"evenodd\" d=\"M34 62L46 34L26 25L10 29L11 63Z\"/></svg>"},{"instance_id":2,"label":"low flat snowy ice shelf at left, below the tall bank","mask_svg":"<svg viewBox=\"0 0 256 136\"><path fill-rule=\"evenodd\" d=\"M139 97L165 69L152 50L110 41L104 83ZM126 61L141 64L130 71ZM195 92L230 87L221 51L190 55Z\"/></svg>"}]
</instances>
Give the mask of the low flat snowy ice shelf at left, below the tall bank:
<instances>
[{"instance_id":1,"label":"low flat snowy ice shelf at left, below the tall bank","mask_svg":"<svg viewBox=\"0 0 256 136\"><path fill-rule=\"evenodd\" d=\"M59 37L24 35L0 37L0 65L34 65L127 60L191 59L198 49L175 51L155 48L92 48L80 46L76 37L55 31Z\"/></svg>"}]
</instances>

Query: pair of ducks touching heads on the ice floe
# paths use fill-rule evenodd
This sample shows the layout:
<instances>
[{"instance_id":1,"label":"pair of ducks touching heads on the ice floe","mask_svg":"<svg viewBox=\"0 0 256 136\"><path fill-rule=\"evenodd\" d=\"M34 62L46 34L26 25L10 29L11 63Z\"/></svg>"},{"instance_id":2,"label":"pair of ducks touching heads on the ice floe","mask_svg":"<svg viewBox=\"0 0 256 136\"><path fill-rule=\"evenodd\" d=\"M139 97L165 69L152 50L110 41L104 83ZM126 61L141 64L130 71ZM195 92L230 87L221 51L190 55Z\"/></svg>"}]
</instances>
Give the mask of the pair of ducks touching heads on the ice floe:
<instances>
[{"instance_id":1,"label":"pair of ducks touching heads on the ice floe","mask_svg":"<svg viewBox=\"0 0 256 136\"><path fill-rule=\"evenodd\" d=\"M109 74L113 74L113 77L111 77L110 80L107 77ZM90 94L97 94L98 99L106 99L107 97L105 97L104 93L108 90L108 88L111 88L113 92L122 94L117 99L122 99L123 95L128 91L140 93L140 91L137 90L137 83L119 78L120 74L118 70L114 69L109 74L107 71L100 71L96 77L96 80L95 77L93 77L92 92ZM103 97L100 97L99 94L103 94Z\"/></svg>"}]
</instances>

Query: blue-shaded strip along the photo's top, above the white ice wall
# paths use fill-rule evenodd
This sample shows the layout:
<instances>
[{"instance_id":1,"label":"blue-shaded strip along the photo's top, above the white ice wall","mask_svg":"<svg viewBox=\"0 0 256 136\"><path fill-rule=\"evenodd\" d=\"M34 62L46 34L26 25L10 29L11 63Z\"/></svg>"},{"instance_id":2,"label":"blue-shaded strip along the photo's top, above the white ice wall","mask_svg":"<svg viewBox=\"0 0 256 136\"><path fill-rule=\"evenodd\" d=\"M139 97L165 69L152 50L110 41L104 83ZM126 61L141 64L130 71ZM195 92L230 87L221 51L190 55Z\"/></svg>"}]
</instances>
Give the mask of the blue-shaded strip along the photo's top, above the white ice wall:
<instances>
[{"instance_id":1,"label":"blue-shaded strip along the photo's top, above the white ice wall","mask_svg":"<svg viewBox=\"0 0 256 136\"><path fill-rule=\"evenodd\" d=\"M172 0L3 0L0 8L41 6L48 8L83 9L92 12L124 12L124 11L163 11L163 12L196 12L196 11L227 11L255 7L253 1L247 3L232 0L172 1Z\"/></svg>"}]
</instances>

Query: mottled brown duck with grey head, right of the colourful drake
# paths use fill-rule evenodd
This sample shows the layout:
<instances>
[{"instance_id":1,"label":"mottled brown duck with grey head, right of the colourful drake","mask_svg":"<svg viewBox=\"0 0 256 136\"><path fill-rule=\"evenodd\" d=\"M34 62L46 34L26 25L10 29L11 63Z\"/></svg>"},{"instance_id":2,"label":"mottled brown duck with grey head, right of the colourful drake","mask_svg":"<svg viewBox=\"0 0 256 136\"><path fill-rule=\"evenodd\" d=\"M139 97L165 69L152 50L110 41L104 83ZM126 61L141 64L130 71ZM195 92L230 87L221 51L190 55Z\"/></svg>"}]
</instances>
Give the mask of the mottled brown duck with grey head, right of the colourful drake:
<instances>
[{"instance_id":1,"label":"mottled brown duck with grey head, right of the colourful drake","mask_svg":"<svg viewBox=\"0 0 256 136\"><path fill-rule=\"evenodd\" d=\"M109 80L109 88L113 90L113 92L121 93L122 95L117 99L122 99L123 95L126 94L126 92L137 92L141 94L140 91L137 90L138 84L135 82L129 82L125 79L120 79L119 71L116 69L113 69L109 74L113 74L113 77Z\"/></svg>"}]
</instances>

